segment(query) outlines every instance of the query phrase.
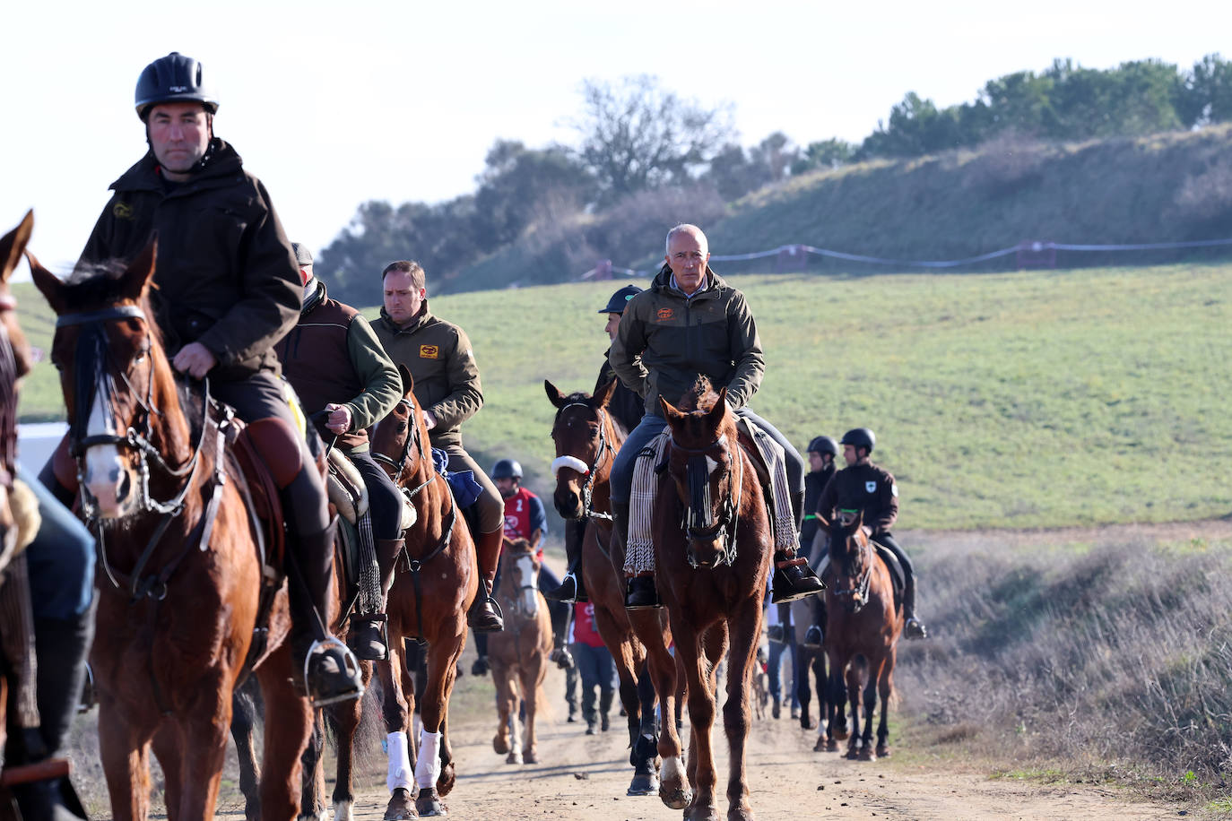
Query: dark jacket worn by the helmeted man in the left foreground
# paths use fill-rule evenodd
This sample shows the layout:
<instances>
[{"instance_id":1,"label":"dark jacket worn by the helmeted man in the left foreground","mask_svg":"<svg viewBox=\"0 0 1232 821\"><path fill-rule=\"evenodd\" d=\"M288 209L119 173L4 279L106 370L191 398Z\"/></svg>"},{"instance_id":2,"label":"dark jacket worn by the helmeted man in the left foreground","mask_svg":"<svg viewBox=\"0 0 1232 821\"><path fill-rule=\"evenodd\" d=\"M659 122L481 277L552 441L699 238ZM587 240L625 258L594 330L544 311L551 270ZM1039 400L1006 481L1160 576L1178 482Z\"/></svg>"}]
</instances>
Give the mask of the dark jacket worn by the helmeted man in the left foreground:
<instances>
[{"instance_id":1,"label":"dark jacket worn by the helmeted man in the left foreground","mask_svg":"<svg viewBox=\"0 0 1232 821\"><path fill-rule=\"evenodd\" d=\"M211 379L229 382L277 372L274 343L299 319L303 292L265 186L223 140L211 151L205 169L171 187L147 153L111 183L81 261L131 262L156 233L150 297L168 350L201 342L218 359Z\"/></svg>"}]
</instances>

